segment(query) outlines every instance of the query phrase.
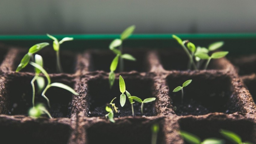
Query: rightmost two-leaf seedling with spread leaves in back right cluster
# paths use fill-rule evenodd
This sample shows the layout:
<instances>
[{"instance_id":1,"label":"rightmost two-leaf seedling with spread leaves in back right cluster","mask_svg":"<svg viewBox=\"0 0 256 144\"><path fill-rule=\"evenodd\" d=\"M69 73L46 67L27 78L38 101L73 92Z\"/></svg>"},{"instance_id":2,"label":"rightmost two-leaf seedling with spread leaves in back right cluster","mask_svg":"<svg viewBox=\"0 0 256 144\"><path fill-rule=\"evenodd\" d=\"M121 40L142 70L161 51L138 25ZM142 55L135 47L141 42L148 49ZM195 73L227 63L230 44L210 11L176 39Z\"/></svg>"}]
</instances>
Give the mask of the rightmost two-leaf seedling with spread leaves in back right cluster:
<instances>
[{"instance_id":1,"label":"rightmost two-leaf seedling with spread leaves in back right cluster","mask_svg":"<svg viewBox=\"0 0 256 144\"><path fill-rule=\"evenodd\" d=\"M199 57L200 59L207 60L204 67L204 69L207 69L207 66L209 65L211 59L219 59L219 58L225 57L227 54L228 54L228 51L219 51L219 52L213 53L211 56L209 56L206 53L199 53L199 54L196 54L196 56Z\"/></svg>"}]
</instances>

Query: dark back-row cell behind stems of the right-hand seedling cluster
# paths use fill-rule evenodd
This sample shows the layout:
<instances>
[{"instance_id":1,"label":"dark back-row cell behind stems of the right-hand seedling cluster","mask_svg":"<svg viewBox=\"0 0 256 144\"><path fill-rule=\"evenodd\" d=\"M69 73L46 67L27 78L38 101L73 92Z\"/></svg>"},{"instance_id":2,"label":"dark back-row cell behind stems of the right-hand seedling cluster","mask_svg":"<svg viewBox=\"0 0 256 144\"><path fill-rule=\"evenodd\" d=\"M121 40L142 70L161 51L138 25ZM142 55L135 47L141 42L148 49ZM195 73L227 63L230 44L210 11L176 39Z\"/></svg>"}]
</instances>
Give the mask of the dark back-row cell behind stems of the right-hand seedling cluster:
<instances>
[{"instance_id":1,"label":"dark back-row cell behind stems of the right-hand seedling cluster","mask_svg":"<svg viewBox=\"0 0 256 144\"><path fill-rule=\"evenodd\" d=\"M159 51L159 57L165 70L187 70L189 59L185 51L176 49ZM200 69L204 68L205 63L206 60L200 63ZM223 59L212 59L207 69L225 69L225 64L223 63L226 63Z\"/></svg>"}]
</instances>

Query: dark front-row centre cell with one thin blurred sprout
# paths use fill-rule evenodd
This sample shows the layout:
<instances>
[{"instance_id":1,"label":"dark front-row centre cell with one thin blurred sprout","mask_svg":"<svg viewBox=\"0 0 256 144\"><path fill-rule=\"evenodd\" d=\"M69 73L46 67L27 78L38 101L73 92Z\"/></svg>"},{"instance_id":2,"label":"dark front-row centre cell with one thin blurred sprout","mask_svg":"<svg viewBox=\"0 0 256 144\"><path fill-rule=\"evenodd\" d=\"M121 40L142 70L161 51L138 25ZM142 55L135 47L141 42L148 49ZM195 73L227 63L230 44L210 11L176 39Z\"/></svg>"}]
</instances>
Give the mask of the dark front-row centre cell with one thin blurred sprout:
<instances>
[{"instance_id":1,"label":"dark front-row centre cell with one thin blurred sprout","mask_svg":"<svg viewBox=\"0 0 256 144\"><path fill-rule=\"evenodd\" d=\"M143 144L151 143L152 122L144 123L142 120L130 122L105 123L99 122L86 129L87 144ZM163 127L159 125L157 144L163 144Z\"/></svg>"}]
</instances>

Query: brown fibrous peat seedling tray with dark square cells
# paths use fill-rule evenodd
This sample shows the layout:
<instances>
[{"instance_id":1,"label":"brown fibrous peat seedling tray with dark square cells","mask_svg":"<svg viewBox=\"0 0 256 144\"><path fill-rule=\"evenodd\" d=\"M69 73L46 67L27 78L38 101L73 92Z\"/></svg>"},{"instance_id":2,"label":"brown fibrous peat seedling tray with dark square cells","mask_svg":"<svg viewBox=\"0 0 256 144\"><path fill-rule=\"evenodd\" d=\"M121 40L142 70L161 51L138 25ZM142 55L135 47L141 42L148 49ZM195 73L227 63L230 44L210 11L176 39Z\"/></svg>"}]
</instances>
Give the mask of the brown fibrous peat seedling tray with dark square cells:
<instances>
[{"instance_id":1,"label":"brown fibrous peat seedling tray with dark square cells","mask_svg":"<svg viewBox=\"0 0 256 144\"><path fill-rule=\"evenodd\" d=\"M54 73L54 70L49 71L50 77L52 81L63 82L73 87L79 95L74 96L69 92L53 90L52 95L56 95L59 101L52 100L51 104L69 103L66 107L67 111L64 110L67 115L55 116L54 119L32 119L25 115L8 115L12 99L14 97L19 99L16 95L23 93L31 95L30 81L34 75L30 72L31 69L28 68L27 72L26 70L14 72L26 51L17 48L1 49L0 51L5 52L0 56L2 57L0 58L2 63L0 66L0 139L5 143L35 143L36 141L54 144L94 144L107 143L108 140L123 144L150 143L150 127L154 123L160 125L158 144L184 143L179 136L179 130L197 134L202 139L221 137L218 133L220 128L232 130L244 141L256 143L256 106L242 81L243 79L250 90L251 85L252 87L256 85L255 75L243 76L241 79L236 73L237 69L225 58L212 60L209 65L210 70L184 71L184 68L179 66L186 65L187 62L182 61L186 56L179 55L179 51L145 49L128 51L135 57L141 57L133 66L131 66L132 63L125 63L128 67L127 72L116 72L115 85L112 90L109 90L108 71L111 60L114 58L111 52L88 50L81 54L74 54L63 51L61 53L63 59L71 61L63 67L67 66L71 69L64 68L66 73L61 74ZM42 50L40 54L52 52L48 49ZM43 58L44 60L48 58L47 61L52 63L46 68L53 69L54 55ZM117 97L114 102L120 107L119 75L124 78L126 90L132 95L142 99L151 96L157 98L148 106L152 111L151 116L120 115L119 118L115 117L116 123L109 122L104 116L90 116L91 111L96 107L104 106L114 97ZM193 81L186 87L187 89L184 89L184 100L196 101L197 104L206 108L207 112L198 113L193 107L185 107L183 111L186 114L178 114L178 111L174 110L174 106L179 103L180 93L172 93L172 90L187 79ZM251 93L255 93L254 89L251 89ZM130 104L127 101L126 105L129 107ZM120 108L121 113L122 110L125 109ZM135 110L139 111L139 109ZM129 115L130 109L124 113Z\"/></svg>"}]
</instances>

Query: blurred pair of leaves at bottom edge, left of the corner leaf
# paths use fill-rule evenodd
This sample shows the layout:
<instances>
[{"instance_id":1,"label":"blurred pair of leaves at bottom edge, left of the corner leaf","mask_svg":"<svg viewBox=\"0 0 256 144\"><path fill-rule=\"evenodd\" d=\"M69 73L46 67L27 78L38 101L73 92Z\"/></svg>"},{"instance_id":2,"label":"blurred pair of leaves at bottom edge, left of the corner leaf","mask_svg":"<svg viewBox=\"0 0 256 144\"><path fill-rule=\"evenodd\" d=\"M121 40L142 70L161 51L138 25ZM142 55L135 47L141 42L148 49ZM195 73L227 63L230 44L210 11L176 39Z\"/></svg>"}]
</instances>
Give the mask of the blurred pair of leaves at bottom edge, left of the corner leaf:
<instances>
[{"instance_id":1,"label":"blurred pair of leaves at bottom edge, left of the corner leaf","mask_svg":"<svg viewBox=\"0 0 256 144\"><path fill-rule=\"evenodd\" d=\"M217 138L207 138L203 141L194 134L188 133L186 131L180 131L180 135L185 141L190 144L224 144L225 141Z\"/></svg>"}]
</instances>

